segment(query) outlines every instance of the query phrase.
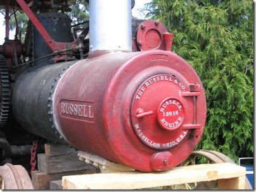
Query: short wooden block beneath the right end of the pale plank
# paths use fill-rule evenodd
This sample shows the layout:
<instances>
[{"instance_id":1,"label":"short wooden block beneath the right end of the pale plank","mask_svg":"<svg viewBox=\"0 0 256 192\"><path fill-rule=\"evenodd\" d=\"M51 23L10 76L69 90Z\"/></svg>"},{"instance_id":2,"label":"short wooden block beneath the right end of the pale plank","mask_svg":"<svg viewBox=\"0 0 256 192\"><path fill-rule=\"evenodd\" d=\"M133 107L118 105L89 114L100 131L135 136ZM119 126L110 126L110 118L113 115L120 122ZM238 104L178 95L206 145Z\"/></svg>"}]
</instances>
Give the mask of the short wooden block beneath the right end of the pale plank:
<instances>
[{"instance_id":1,"label":"short wooden block beneath the right end of the pale plank","mask_svg":"<svg viewBox=\"0 0 256 192\"><path fill-rule=\"evenodd\" d=\"M245 176L230 179L219 179L218 189L245 189Z\"/></svg>"}]
</instances>

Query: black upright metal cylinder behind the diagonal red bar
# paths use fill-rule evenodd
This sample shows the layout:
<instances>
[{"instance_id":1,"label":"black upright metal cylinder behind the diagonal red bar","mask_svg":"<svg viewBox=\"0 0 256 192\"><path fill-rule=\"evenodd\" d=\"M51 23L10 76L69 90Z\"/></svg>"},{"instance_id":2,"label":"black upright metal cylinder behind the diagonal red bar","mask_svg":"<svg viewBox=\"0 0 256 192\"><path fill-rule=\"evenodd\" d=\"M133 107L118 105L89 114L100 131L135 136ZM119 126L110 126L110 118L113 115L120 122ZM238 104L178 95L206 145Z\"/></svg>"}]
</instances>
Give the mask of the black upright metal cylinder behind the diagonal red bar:
<instances>
[{"instance_id":1,"label":"black upright metal cylinder behind the diagonal red bar","mask_svg":"<svg viewBox=\"0 0 256 192\"><path fill-rule=\"evenodd\" d=\"M49 33L51 38L56 42L72 42L71 19L63 13L46 12L37 15L37 18L42 23L42 26ZM51 50L44 42L42 35L34 28L33 38L33 54L34 59L51 54ZM35 68L46 64L53 64L52 56L40 59L34 62Z\"/></svg>"}]
</instances>

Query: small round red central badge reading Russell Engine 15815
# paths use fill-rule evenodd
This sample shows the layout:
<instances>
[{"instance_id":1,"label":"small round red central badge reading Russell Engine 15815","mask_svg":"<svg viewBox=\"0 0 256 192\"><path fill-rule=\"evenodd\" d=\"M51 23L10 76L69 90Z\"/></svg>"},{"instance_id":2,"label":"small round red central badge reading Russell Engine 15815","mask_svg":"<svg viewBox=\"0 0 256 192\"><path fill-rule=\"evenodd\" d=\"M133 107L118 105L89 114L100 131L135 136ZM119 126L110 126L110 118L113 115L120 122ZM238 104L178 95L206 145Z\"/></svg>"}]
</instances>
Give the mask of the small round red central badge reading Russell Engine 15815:
<instances>
[{"instance_id":1,"label":"small round red central badge reading Russell Engine 15815","mask_svg":"<svg viewBox=\"0 0 256 192\"><path fill-rule=\"evenodd\" d=\"M163 100L157 111L157 119L165 130L174 130L181 126L184 112L181 102L171 97Z\"/></svg>"}]
</instances>

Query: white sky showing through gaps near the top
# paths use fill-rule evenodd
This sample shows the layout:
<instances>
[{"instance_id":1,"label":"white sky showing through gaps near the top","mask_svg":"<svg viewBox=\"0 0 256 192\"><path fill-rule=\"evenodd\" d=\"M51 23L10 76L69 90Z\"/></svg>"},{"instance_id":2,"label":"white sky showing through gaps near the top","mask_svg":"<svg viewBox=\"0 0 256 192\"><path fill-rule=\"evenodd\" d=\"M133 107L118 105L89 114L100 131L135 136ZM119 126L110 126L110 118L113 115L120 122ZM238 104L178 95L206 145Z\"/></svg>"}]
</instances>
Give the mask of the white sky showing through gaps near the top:
<instances>
[{"instance_id":1,"label":"white sky showing through gaps near the top","mask_svg":"<svg viewBox=\"0 0 256 192\"><path fill-rule=\"evenodd\" d=\"M144 4L150 3L152 0L135 0L135 6L132 9L132 15L136 16L136 18L144 19L145 13L140 13L139 9L144 7ZM24 13L25 14L25 13ZM4 23L4 16L0 13L0 45L4 42L5 37L5 27ZM15 32L10 32L10 39L13 39Z\"/></svg>"}]
</instances>

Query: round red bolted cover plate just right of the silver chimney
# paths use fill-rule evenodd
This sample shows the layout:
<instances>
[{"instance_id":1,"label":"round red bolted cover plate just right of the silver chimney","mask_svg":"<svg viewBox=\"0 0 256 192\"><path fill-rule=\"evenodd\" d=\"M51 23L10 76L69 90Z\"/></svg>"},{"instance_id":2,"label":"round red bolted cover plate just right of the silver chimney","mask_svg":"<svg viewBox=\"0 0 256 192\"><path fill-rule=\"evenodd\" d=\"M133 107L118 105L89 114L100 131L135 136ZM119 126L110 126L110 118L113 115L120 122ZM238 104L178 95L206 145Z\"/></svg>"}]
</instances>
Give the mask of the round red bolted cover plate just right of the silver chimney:
<instances>
[{"instance_id":1,"label":"round red bolted cover plate just right of the silver chimney","mask_svg":"<svg viewBox=\"0 0 256 192\"><path fill-rule=\"evenodd\" d=\"M159 21L148 20L141 23L136 37L139 50L164 50L163 33L167 33L167 28Z\"/></svg>"}]
</instances>

